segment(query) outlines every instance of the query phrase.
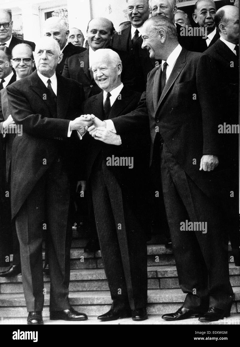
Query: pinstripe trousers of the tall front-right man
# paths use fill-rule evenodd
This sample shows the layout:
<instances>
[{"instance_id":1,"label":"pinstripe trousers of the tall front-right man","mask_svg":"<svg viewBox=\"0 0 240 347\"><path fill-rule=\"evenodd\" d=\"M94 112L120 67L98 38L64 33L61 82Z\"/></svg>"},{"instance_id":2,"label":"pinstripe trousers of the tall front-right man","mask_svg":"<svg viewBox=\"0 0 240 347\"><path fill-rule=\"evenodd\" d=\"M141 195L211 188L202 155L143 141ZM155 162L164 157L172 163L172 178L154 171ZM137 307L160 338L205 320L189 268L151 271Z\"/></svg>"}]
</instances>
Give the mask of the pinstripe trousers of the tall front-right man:
<instances>
[{"instance_id":1,"label":"pinstripe trousers of the tall front-right man","mask_svg":"<svg viewBox=\"0 0 240 347\"><path fill-rule=\"evenodd\" d=\"M164 143L161 151L164 203L184 307L225 309L232 302L229 264L216 203L185 173ZM181 231L180 223L207 222L207 233Z\"/></svg>"}]
</instances>

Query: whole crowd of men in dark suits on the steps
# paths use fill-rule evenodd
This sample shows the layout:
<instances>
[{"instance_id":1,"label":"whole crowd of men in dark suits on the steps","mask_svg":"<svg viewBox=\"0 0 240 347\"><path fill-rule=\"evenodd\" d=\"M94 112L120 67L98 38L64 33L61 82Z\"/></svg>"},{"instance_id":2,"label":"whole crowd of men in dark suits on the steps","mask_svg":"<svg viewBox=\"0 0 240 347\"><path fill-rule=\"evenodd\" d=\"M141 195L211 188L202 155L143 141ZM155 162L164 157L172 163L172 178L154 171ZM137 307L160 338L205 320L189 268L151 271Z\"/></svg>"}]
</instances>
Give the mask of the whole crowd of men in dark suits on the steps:
<instances>
[{"instance_id":1,"label":"whole crowd of men in dark suits on the steps","mask_svg":"<svg viewBox=\"0 0 240 347\"><path fill-rule=\"evenodd\" d=\"M17 39L11 10L0 10L0 266L13 254L0 276L22 274L28 324L43 324L43 273L50 319L88 319L68 299L83 211L85 252L101 249L113 300L100 321L148 318L153 218L167 221L187 294L162 318L230 316L229 239L240 266L238 2L216 10L198 0L193 35L175 0L128 0L127 13L119 32L91 19L83 47L84 28L58 17L35 43Z\"/></svg>"}]
</instances>

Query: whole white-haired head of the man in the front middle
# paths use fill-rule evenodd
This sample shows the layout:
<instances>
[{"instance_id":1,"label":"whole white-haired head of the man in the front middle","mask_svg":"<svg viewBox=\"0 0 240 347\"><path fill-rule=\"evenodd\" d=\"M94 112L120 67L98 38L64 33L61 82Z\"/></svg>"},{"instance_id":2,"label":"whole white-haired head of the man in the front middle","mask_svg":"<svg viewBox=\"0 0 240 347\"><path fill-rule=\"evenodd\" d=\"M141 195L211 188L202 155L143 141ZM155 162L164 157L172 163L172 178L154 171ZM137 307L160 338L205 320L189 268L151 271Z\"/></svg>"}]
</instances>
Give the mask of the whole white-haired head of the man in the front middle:
<instances>
[{"instance_id":1,"label":"whole white-haired head of the man in the front middle","mask_svg":"<svg viewBox=\"0 0 240 347\"><path fill-rule=\"evenodd\" d=\"M92 71L97 85L106 92L121 84L122 62L111 49L98 49L93 54Z\"/></svg>"}]
</instances>

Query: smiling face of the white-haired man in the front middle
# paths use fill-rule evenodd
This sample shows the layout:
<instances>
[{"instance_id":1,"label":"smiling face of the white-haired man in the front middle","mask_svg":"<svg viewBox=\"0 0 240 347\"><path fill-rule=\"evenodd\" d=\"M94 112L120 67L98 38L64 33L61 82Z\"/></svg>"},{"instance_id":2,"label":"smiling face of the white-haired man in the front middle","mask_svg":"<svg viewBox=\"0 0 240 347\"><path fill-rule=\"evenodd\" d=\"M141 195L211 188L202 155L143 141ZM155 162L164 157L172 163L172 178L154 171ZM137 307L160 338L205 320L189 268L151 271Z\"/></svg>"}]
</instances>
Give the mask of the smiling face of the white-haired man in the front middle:
<instances>
[{"instance_id":1,"label":"smiling face of the white-haired man in the front middle","mask_svg":"<svg viewBox=\"0 0 240 347\"><path fill-rule=\"evenodd\" d=\"M116 64L109 56L95 58L92 72L99 88L106 92L111 92L121 84L122 64Z\"/></svg>"}]
</instances>

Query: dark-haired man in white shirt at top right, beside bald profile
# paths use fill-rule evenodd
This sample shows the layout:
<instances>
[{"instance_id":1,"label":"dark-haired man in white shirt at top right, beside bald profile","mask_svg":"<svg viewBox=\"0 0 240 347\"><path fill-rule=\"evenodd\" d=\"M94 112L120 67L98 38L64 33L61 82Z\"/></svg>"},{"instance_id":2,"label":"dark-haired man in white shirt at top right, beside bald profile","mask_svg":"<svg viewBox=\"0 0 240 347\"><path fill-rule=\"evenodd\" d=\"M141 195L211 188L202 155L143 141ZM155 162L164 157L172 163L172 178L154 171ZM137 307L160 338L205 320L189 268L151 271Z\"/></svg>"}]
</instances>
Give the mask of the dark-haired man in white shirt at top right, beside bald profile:
<instances>
[{"instance_id":1,"label":"dark-haired man in white shirt at top right, beside bald profile","mask_svg":"<svg viewBox=\"0 0 240 347\"><path fill-rule=\"evenodd\" d=\"M216 5L213 0L198 0L195 3L193 20L200 28L206 30L206 35L194 38L194 48L191 51L204 52L219 39L220 36L214 23L215 14Z\"/></svg>"}]
</instances>

